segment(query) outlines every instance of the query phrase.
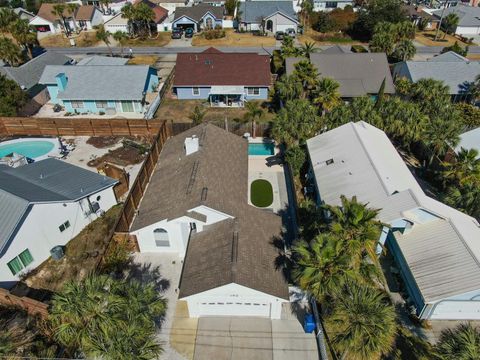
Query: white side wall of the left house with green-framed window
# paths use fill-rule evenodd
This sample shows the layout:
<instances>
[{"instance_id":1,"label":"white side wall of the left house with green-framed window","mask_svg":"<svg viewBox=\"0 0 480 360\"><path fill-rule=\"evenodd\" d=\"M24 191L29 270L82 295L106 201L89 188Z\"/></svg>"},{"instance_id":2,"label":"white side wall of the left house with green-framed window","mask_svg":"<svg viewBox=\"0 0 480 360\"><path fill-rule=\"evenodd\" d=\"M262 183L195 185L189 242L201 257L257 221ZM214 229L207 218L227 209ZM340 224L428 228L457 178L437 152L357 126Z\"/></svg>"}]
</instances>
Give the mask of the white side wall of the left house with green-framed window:
<instances>
[{"instance_id":1,"label":"white side wall of the left house with green-framed window","mask_svg":"<svg viewBox=\"0 0 480 360\"><path fill-rule=\"evenodd\" d=\"M98 196L100 199L97 201ZM112 187L92 194L89 198L91 202L97 201L103 211L117 203ZM54 246L65 245L98 217L96 214L85 216L87 209L86 198L78 202L32 205L19 231L0 257L0 287L19 280L20 274L13 275L7 263L22 251L28 249L33 257L33 262L22 271L23 273L43 263L50 257L50 250ZM59 226L66 221L70 222L70 227L60 232Z\"/></svg>"}]
</instances>

